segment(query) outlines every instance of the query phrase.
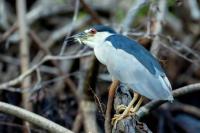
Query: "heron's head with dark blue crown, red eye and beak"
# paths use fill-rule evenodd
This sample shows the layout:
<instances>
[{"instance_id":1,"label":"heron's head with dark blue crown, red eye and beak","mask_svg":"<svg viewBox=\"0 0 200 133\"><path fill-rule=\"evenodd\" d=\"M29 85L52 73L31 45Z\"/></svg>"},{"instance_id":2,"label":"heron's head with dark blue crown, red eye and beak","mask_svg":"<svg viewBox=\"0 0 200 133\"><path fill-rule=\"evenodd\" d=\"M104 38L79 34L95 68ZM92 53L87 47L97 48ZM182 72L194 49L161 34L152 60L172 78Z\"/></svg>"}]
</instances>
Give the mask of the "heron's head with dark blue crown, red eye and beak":
<instances>
[{"instance_id":1,"label":"heron's head with dark blue crown, red eye and beak","mask_svg":"<svg viewBox=\"0 0 200 133\"><path fill-rule=\"evenodd\" d=\"M103 25L96 25L73 35L71 38L73 38L75 42L94 48L104 42L106 38L112 34L116 34L112 28Z\"/></svg>"}]
</instances>

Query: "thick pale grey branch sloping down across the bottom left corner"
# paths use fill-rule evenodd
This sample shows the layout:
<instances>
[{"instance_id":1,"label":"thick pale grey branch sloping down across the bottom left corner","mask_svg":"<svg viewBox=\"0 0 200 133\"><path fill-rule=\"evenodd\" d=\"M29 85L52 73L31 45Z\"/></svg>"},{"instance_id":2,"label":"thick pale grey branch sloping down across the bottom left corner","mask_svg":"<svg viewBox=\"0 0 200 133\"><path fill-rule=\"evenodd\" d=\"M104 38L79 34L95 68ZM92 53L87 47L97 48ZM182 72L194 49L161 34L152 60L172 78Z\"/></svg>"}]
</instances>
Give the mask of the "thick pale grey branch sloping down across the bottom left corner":
<instances>
[{"instance_id":1,"label":"thick pale grey branch sloping down across the bottom left corner","mask_svg":"<svg viewBox=\"0 0 200 133\"><path fill-rule=\"evenodd\" d=\"M27 110L0 102L0 111L14 115L52 133L72 133L70 130Z\"/></svg>"}]
</instances>

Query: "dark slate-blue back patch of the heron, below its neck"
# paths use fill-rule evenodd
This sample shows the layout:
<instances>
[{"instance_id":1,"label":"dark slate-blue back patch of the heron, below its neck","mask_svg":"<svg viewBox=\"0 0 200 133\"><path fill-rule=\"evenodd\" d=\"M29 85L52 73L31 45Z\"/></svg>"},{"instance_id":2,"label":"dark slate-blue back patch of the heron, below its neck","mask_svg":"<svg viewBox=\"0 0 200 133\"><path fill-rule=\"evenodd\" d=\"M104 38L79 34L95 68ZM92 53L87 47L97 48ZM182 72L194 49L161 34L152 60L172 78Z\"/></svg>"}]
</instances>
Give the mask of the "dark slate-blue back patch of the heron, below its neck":
<instances>
[{"instance_id":1,"label":"dark slate-blue back patch of the heron, below its neck","mask_svg":"<svg viewBox=\"0 0 200 133\"><path fill-rule=\"evenodd\" d=\"M152 74L159 74L165 76L165 73L160 64L158 63L157 59L155 59L155 57L152 56L152 54L149 51L147 51L143 46L141 46L134 40L131 40L119 34L114 34L112 36L109 36L106 39L106 41L112 42L112 45L116 49L121 49L133 55Z\"/></svg>"}]
</instances>

